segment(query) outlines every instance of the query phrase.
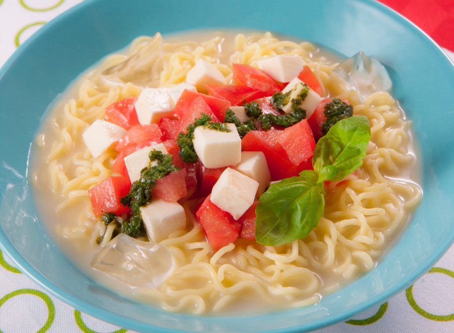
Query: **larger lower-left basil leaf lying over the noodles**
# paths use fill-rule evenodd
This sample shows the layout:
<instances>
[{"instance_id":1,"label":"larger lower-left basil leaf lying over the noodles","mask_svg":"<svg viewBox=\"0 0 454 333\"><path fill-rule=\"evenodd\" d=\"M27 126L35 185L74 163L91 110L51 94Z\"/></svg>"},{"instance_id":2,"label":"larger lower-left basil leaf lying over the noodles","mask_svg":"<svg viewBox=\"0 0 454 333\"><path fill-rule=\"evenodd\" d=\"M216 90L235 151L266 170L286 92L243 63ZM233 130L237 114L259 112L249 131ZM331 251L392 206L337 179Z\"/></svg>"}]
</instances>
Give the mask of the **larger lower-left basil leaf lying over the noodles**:
<instances>
[{"instance_id":1,"label":"larger lower-left basil leaf lying over the noodles","mask_svg":"<svg viewBox=\"0 0 454 333\"><path fill-rule=\"evenodd\" d=\"M323 215L323 183L305 170L301 177L283 179L260 196L255 209L255 239L262 245L281 245L305 238Z\"/></svg>"}]
</instances>

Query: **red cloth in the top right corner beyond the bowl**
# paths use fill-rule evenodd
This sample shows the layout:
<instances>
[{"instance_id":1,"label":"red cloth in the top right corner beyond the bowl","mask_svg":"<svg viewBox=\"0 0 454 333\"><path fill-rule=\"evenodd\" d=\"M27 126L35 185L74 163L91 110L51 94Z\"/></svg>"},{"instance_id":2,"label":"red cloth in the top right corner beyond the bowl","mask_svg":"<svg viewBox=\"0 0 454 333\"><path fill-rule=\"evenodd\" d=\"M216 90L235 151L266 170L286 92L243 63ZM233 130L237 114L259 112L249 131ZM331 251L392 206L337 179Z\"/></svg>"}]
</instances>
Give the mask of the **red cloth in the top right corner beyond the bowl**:
<instances>
[{"instance_id":1,"label":"red cloth in the top right corner beyond the bowl","mask_svg":"<svg viewBox=\"0 0 454 333\"><path fill-rule=\"evenodd\" d=\"M454 51L454 0L380 0L412 21L438 45Z\"/></svg>"}]
</instances>

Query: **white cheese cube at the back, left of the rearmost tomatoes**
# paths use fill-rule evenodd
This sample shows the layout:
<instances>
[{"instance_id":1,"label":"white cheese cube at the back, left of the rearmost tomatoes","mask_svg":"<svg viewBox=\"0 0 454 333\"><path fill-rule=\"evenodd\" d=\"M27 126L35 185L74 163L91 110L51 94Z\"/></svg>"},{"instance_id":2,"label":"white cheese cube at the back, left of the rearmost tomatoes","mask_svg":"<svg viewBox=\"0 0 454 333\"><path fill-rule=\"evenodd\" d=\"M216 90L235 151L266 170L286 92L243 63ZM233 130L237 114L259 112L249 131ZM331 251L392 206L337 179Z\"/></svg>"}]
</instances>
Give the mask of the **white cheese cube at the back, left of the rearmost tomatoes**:
<instances>
[{"instance_id":1,"label":"white cheese cube at the back, left of the rearmost tomatoes","mask_svg":"<svg viewBox=\"0 0 454 333\"><path fill-rule=\"evenodd\" d=\"M207 84L224 84L225 78L215 65L200 59L186 74L186 83L195 86L199 92L206 92Z\"/></svg>"}]
</instances>

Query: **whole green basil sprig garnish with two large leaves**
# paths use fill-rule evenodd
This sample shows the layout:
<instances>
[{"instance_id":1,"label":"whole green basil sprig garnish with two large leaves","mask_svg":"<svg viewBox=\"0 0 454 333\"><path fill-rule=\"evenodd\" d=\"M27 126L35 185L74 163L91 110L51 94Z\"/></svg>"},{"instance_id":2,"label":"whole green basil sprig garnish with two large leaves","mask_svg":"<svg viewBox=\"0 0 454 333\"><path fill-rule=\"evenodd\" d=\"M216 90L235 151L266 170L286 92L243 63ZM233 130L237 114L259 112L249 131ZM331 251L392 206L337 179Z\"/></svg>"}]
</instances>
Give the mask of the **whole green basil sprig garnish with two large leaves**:
<instances>
[{"instance_id":1,"label":"whole green basil sprig garnish with two large leaves","mask_svg":"<svg viewBox=\"0 0 454 333\"><path fill-rule=\"evenodd\" d=\"M361 167L369 139L367 117L350 117L332 126L315 146L314 170L274 183L260 196L255 209L257 243L275 246L309 235L323 215L323 181L342 180Z\"/></svg>"}]
</instances>

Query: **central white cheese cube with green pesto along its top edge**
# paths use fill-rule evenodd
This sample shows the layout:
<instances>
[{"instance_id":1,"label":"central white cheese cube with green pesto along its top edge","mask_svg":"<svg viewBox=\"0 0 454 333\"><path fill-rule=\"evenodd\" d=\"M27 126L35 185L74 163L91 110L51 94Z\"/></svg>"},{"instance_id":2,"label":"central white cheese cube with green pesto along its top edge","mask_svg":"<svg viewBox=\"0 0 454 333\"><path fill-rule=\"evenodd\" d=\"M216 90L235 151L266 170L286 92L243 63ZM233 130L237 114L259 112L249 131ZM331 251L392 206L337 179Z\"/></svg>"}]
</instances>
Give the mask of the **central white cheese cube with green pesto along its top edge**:
<instances>
[{"instance_id":1,"label":"central white cheese cube with green pesto along its top edge","mask_svg":"<svg viewBox=\"0 0 454 333\"><path fill-rule=\"evenodd\" d=\"M208 129L194 130L194 150L205 168L221 168L241 161L241 138L235 124L227 124L230 132Z\"/></svg>"}]
</instances>

